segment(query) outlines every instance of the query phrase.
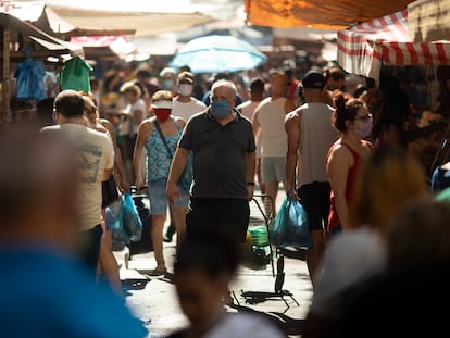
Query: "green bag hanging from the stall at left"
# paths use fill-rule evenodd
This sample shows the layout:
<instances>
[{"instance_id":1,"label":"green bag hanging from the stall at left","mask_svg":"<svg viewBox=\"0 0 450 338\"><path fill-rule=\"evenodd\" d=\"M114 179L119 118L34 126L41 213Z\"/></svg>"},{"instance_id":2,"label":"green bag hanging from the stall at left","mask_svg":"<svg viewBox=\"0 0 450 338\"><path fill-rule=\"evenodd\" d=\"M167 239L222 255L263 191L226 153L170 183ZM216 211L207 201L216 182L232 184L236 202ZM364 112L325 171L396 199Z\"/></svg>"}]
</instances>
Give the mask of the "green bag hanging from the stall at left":
<instances>
[{"instance_id":1,"label":"green bag hanging from the stall at left","mask_svg":"<svg viewBox=\"0 0 450 338\"><path fill-rule=\"evenodd\" d=\"M66 61L61 70L61 89L90 91L91 71L92 67L79 57Z\"/></svg>"}]
</instances>

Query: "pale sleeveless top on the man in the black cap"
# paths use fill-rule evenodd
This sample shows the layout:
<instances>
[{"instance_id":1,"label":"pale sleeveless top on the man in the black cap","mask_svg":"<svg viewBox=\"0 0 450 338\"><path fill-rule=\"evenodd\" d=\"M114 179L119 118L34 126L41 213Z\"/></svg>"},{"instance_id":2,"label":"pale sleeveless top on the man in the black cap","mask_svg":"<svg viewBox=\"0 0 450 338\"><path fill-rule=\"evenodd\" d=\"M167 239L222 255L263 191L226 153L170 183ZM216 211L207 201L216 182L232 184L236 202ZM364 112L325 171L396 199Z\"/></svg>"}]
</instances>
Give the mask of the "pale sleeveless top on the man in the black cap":
<instances>
[{"instance_id":1,"label":"pale sleeveless top on the man in the black cap","mask_svg":"<svg viewBox=\"0 0 450 338\"><path fill-rule=\"evenodd\" d=\"M334 110L320 102L304 103L298 109L302 114L297 185L328 181L326 157L329 147L338 139L338 133L332 126Z\"/></svg>"}]
</instances>

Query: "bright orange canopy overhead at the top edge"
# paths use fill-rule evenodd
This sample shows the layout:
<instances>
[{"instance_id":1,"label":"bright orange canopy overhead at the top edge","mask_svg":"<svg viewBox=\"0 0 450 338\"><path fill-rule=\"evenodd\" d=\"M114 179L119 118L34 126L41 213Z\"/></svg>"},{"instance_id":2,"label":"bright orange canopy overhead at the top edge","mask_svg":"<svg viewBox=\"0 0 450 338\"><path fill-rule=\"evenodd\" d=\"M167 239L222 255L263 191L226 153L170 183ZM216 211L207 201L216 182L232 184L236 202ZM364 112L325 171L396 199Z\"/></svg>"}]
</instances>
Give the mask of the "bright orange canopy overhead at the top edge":
<instances>
[{"instance_id":1,"label":"bright orange canopy overhead at the top edge","mask_svg":"<svg viewBox=\"0 0 450 338\"><path fill-rule=\"evenodd\" d=\"M342 29L407 8L412 0L246 0L247 21L270 27Z\"/></svg>"}]
</instances>

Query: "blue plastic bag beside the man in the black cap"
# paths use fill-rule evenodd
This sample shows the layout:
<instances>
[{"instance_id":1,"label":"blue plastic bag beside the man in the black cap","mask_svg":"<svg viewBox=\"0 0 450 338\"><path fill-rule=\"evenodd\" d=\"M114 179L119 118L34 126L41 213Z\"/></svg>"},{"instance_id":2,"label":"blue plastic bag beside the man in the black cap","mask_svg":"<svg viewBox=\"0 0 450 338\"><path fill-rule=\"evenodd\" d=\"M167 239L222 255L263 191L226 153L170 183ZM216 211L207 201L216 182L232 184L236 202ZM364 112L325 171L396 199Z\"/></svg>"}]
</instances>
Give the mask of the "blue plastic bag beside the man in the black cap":
<instances>
[{"instance_id":1,"label":"blue plastic bag beside the man in the black cap","mask_svg":"<svg viewBox=\"0 0 450 338\"><path fill-rule=\"evenodd\" d=\"M268 240L275 246L311 248L308 214L299 200L284 199L270 227Z\"/></svg>"}]
</instances>

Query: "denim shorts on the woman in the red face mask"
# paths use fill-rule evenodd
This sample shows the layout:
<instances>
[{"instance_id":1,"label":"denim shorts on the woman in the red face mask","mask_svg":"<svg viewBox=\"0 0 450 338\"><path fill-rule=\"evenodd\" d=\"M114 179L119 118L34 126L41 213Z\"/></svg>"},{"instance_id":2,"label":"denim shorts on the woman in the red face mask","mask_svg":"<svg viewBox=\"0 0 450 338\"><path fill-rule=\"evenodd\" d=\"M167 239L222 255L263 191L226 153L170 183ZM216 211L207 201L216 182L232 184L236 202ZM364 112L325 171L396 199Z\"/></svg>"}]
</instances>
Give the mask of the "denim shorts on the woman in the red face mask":
<instances>
[{"instance_id":1,"label":"denim shorts on the woman in the red face mask","mask_svg":"<svg viewBox=\"0 0 450 338\"><path fill-rule=\"evenodd\" d=\"M162 215L167 212L168 200L166 193L167 179L157 179L147 184L150 200L150 214ZM172 209L187 208L189 205L189 195L178 184L179 198L175 199Z\"/></svg>"}]
</instances>

